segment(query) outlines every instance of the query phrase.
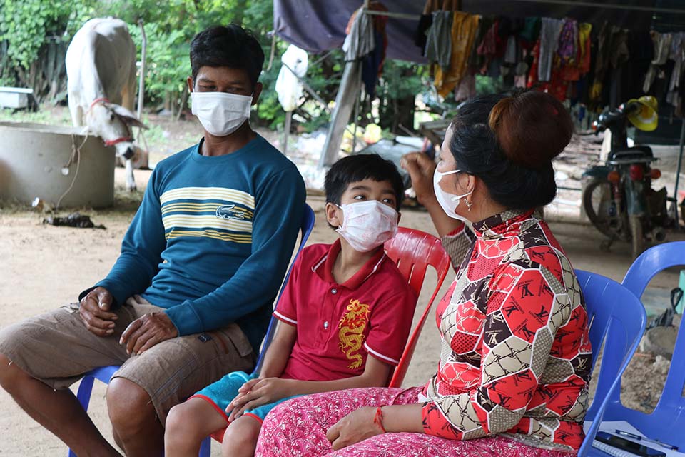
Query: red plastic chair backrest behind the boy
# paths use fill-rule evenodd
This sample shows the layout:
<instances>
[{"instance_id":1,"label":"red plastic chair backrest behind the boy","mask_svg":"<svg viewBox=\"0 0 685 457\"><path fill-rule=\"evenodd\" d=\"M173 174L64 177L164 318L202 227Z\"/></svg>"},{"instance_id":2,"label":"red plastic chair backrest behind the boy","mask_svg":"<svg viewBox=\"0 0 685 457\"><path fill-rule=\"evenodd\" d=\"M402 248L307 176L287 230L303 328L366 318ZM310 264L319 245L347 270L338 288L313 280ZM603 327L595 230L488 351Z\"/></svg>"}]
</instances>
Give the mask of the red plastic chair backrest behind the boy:
<instances>
[{"instance_id":1,"label":"red plastic chair backrest behind the boy","mask_svg":"<svg viewBox=\"0 0 685 457\"><path fill-rule=\"evenodd\" d=\"M390 387L399 387L402 385L402 380L405 378L407 368L414 354L416 343L419 339L423 324L426 321L430 308L437 293L440 291L442 282L445 281L447 272L450 271L450 257L447 256L445 249L442 248L442 242L435 236L425 233L420 230L407 229L400 227L397 235L390 241L385 243L385 252L387 256L392 258L397 263L397 268L400 269L411 288L415 291L416 296L421 293L423 280L426 277L428 266L435 268L437 273L437 283L432 296L428 300L426 307L417 322L415 328L412 330L405 351L402 353L400 363L395 368L390 380Z\"/></svg>"}]
</instances>

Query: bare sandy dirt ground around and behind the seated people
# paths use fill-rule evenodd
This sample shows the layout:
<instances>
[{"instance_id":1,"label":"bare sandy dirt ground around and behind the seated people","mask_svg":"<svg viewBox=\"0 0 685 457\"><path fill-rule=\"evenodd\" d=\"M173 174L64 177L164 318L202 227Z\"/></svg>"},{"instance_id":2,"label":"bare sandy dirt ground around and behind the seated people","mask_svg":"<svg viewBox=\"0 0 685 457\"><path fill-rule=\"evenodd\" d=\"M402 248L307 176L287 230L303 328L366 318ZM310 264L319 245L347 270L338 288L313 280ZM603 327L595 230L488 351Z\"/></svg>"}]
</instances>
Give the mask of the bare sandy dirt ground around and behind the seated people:
<instances>
[{"instance_id":1,"label":"bare sandy dirt ground around and behind the seated people","mask_svg":"<svg viewBox=\"0 0 685 457\"><path fill-rule=\"evenodd\" d=\"M149 171L136 171L138 189L144 189L149 174ZM0 327L75 301L83 288L108 273L133 217L136 199L140 198L139 194L128 196L123 191L124 181L123 170L117 169L118 192L114 209L86 211L96 224L104 224L106 230L46 226L41 224L41 214L0 207ZM308 202L317 212L318 219L308 242L333 241L335 232L322 219L323 199L311 196ZM405 210L402 225L435 233L425 211ZM552 222L551 226L575 268L596 271L621 281L631 263L627 244L614 246L612 252L605 253L599 251L602 236L592 227L568 222ZM445 281L443 291L450 280L448 277ZM677 281L678 272L668 271L657 276L651 286L670 289ZM435 282L435 275L427 277L419 311L435 288ZM431 318L425 326L405 386L425 383L435 372L440 349L434 322ZM659 361L657 365L654 366L654 358L649 355L636 358L626 376L630 381L626 385L629 390L626 398L631 406L643 405L644 408L644 404L653 406L655 403L664 377L663 373L658 374L664 371L664 363ZM106 438L111 440L104 393L105 386L96 382L90 413ZM0 457L61 456L66 453L66 447L22 413L4 391L0 391L0 411ZM218 446L213 447L213 455L219 455Z\"/></svg>"}]
</instances>

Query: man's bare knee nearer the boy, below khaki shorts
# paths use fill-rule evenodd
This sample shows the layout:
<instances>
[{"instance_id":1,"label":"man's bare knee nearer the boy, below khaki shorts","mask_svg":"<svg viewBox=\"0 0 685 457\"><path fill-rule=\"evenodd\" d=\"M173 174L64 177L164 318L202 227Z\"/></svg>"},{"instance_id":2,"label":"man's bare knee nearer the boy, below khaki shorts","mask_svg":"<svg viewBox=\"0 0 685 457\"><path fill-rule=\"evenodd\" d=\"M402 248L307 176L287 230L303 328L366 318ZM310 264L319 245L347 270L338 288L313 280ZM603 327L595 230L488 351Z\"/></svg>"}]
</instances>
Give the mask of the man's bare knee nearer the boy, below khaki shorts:
<instances>
[{"instance_id":1,"label":"man's bare knee nearer the boy, below khaki shorts","mask_svg":"<svg viewBox=\"0 0 685 457\"><path fill-rule=\"evenodd\" d=\"M137 433L149 426L151 421L157 420L148 393L126 378L114 378L109 383L107 408L112 426L123 441L131 433Z\"/></svg>"}]
</instances>

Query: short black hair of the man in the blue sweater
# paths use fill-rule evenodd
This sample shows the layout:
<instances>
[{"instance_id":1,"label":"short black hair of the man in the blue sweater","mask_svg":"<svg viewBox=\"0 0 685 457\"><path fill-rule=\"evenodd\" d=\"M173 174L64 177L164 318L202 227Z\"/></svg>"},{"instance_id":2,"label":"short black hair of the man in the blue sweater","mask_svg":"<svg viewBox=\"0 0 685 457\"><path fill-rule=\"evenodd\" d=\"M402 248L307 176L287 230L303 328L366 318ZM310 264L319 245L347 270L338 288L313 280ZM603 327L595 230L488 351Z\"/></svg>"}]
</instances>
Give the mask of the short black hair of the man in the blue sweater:
<instances>
[{"instance_id":1,"label":"short black hair of the man in the blue sweater","mask_svg":"<svg viewBox=\"0 0 685 457\"><path fill-rule=\"evenodd\" d=\"M259 41L239 25L213 26L191 41L193 80L202 66L228 66L245 70L254 87L263 65L264 51Z\"/></svg>"}]
</instances>

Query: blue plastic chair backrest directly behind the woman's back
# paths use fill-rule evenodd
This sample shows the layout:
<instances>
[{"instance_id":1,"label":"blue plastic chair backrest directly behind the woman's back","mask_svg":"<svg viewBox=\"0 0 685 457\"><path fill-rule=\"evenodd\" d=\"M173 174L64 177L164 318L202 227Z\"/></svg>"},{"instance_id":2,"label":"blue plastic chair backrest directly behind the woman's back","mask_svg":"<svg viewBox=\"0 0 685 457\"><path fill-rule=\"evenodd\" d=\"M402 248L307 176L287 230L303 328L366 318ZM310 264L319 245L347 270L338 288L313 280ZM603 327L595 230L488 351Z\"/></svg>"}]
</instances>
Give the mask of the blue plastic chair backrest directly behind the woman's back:
<instances>
[{"instance_id":1,"label":"blue plastic chair backrest directly behind the woman's back","mask_svg":"<svg viewBox=\"0 0 685 457\"><path fill-rule=\"evenodd\" d=\"M585 416L587 421L592 421L592 426L578 454L584 456L592 446L602 418L606 418L612 394L620 391L621 375L637 349L647 316L636 296L616 281L588 271L577 270L576 274L589 318L593 367L602 342L605 345L599 373L597 369L593 373L599 378L594 400Z\"/></svg>"}]
</instances>

